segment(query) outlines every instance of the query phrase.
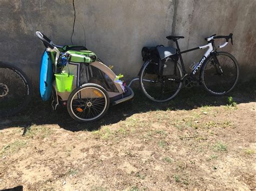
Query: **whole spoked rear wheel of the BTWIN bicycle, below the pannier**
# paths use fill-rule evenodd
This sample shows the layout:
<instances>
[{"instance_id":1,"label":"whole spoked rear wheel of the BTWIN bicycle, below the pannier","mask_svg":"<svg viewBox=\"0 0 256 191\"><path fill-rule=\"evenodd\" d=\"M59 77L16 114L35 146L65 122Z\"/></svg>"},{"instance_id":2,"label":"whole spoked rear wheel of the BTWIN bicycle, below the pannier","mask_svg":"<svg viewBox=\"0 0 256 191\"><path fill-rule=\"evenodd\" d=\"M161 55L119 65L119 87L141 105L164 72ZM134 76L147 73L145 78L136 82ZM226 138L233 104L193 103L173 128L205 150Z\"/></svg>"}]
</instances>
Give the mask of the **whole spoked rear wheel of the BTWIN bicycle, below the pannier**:
<instances>
[{"instance_id":1,"label":"whole spoked rear wheel of the BTWIN bicycle, below the pannier","mask_svg":"<svg viewBox=\"0 0 256 191\"><path fill-rule=\"evenodd\" d=\"M142 68L139 76L140 87L143 93L155 102L166 102L175 97L182 86L183 73L179 65L177 65L177 74L173 74L173 70L165 72L166 75L160 77L153 72L156 63L147 61Z\"/></svg>"}]
</instances>

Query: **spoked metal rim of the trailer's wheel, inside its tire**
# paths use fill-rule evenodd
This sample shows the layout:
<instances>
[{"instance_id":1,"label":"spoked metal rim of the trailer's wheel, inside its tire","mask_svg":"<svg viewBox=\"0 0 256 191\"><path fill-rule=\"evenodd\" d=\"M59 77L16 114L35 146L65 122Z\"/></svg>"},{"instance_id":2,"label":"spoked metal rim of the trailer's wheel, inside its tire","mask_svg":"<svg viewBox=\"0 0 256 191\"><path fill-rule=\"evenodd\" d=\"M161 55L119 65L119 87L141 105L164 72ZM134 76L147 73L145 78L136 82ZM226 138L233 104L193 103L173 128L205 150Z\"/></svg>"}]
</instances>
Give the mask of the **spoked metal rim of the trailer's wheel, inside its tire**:
<instances>
[{"instance_id":1,"label":"spoked metal rim of the trailer's wheel, inside its tire","mask_svg":"<svg viewBox=\"0 0 256 191\"><path fill-rule=\"evenodd\" d=\"M107 98L99 88L86 87L72 96L70 107L76 118L82 121L92 121L106 110Z\"/></svg>"}]
</instances>

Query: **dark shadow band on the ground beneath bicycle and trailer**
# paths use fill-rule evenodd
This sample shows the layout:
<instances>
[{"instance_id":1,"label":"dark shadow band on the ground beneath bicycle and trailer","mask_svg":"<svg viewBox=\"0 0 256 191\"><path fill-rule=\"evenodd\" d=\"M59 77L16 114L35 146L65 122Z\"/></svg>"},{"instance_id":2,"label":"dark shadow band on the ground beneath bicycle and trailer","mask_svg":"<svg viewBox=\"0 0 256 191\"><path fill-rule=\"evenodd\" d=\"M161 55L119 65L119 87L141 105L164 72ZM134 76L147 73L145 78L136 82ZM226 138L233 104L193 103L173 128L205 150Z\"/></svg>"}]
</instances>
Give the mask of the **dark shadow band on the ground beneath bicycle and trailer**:
<instances>
[{"instance_id":1,"label":"dark shadow band on the ground beneath bicycle and trailer","mask_svg":"<svg viewBox=\"0 0 256 191\"><path fill-rule=\"evenodd\" d=\"M212 96L203 87L182 89L180 93L171 101L156 103L147 99L142 91L134 89L134 98L130 101L114 105L109 108L106 115L96 122L78 123L74 121L64 107L52 111L49 103L43 103L38 98L34 98L30 106L22 114L2 119L0 130L12 127L24 128L23 134L33 124L47 125L57 124L60 128L68 131L93 131L98 130L104 125L115 124L124 121L133 114L156 110L192 110L205 105L220 106L228 104L228 97L231 96L234 102L248 103L256 102L256 84L239 84L230 94L225 96Z\"/></svg>"}]
</instances>

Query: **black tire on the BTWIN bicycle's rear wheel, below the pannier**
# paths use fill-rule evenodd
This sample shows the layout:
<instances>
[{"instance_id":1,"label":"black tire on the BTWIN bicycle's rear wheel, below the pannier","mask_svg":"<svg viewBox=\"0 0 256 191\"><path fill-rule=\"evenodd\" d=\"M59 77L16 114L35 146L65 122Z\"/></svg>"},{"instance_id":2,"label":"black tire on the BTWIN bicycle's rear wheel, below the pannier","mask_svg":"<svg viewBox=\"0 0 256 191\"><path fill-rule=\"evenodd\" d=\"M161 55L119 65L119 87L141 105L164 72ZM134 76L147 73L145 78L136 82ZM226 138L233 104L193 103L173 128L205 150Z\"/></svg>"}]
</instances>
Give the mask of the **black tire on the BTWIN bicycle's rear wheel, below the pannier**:
<instances>
[{"instance_id":1,"label":"black tire on the BTWIN bicycle's rear wheel, below the pannier","mask_svg":"<svg viewBox=\"0 0 256 191\"><path fill-rule=\"evenodd\" d=\"M175 92L171 97L169 97L169 98L166 98L166 99L164 99L164 100L158 100L158 99L152 97L149 93L147 93L147 91L145 90L144 84L143 84L143 75L144 75L144 73L145 73L145 70L146 70L147 66L149 66L150 63L151 63L151 62L148 61L148 63L146 63L146 64L143 66L143 68L142 68L142 70L141 70L141 72L140 72L140 75L139 75L139 84L140 84L140 88L142 89L142 91L143 91L143 93L145 94L145 96L148 97L150 100L152 100L152 101L154 101L154 102L167 102L167 101L170 101L172 98L174 98L174 97L179 93L179 91L180 91L180 89L181 89L181 87L182 87L183 82L182 82L182 81L179 82L180 84L179 84L178 89L177 89L176 92ZM181 70L179 64L177 64L177 73L178 73L178 72L180 73L180 79L182 79L182 77L183 77L183 72L182 72L182 70Z\"/></svg>"}]
</instances>

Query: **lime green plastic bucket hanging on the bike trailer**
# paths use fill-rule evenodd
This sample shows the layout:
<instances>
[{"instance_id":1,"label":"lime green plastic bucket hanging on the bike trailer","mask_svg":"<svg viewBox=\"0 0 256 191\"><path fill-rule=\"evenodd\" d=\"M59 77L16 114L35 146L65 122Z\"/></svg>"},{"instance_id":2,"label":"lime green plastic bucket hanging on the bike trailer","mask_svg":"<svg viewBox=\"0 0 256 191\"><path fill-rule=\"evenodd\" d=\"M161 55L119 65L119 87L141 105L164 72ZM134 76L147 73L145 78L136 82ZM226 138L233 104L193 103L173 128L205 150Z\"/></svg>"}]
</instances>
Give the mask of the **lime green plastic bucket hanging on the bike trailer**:
<instances>
[{"instance_id":1,"label":"lime green plastic bucket hanging on the bike trailer","mask_svg":"<svg viewBox=\"0 0 256 191\"><path fill-rule=\"evenodd\" d=\"M72 91L74 75L55 74L55 76L56 76L56 86L59 92Z\"/></svg>"}]
</instances>

